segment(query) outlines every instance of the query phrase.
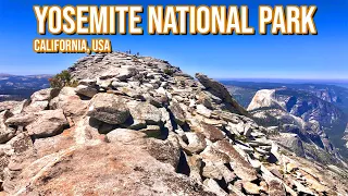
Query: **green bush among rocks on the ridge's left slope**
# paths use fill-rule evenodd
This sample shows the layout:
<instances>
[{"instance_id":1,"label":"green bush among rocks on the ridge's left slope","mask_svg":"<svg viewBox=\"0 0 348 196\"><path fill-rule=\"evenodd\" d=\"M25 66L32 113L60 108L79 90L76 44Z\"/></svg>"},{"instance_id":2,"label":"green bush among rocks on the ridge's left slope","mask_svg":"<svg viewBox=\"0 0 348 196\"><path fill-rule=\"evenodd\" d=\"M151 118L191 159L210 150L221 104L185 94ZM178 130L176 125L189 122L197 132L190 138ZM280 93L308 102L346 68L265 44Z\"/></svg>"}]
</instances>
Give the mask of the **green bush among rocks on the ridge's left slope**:
<instances>
[{"instance_id":1,"label":"green bush among rocks on the ridge's left slope","mask_svg":"<svg viewBox=\"0 0 348 196\"><path fill-rule=\"evenodd\" d=\"M67 70L62 71L61 73L49 78L51 88L63 88L65 86L76 87L77 81L72 78L72 75Z\"/></svg>"}]
</instances>

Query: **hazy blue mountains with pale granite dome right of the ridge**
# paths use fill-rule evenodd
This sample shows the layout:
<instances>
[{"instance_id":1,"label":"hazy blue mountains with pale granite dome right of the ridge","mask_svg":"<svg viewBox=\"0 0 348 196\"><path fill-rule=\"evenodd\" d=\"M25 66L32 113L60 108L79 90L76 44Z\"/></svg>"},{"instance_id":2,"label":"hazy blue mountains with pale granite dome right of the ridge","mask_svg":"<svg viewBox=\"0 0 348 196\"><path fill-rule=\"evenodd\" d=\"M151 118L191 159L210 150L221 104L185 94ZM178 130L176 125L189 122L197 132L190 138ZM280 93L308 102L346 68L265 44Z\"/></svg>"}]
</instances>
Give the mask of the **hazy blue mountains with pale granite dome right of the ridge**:
<instances>
[{"instance_id":1,"label":"hazy blue mountains with pale granite dome right of the ridge","mask_svg":"<svg viewBox=\"0 0 348 196\"><path fill-rule=\"evenodd\" d=\"M234 81L224 81L223 84L259 119L259 123L276 126L279 132L295 133L319 149L330 154L338 150L348 157L343 139L348 122L347 88L325 84Z\"/></svg>"}]
</instances>

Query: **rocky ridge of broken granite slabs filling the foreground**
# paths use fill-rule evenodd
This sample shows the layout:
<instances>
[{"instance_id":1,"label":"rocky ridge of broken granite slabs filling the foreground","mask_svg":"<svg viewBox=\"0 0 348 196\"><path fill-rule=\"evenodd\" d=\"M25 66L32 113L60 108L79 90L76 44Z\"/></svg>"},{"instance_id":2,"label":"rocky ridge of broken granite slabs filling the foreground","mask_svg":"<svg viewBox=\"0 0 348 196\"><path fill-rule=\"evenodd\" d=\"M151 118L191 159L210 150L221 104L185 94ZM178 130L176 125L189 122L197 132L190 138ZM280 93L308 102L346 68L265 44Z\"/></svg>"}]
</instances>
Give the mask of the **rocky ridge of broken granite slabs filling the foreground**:
<instances>
[{"instance_id":1,"label":"rocky ridge of broken granite slabs filling the foreground","mask_svg":"<svg viewBox=\"0 0 348 196\"><path fill-rule=\"evenodd\" d=\"M347 171L268 138L226 88L122 52L70 69L0 114L9 195L346 195ZM1 194L0 193L0 194Z\"/></svg>"}]
</instances>

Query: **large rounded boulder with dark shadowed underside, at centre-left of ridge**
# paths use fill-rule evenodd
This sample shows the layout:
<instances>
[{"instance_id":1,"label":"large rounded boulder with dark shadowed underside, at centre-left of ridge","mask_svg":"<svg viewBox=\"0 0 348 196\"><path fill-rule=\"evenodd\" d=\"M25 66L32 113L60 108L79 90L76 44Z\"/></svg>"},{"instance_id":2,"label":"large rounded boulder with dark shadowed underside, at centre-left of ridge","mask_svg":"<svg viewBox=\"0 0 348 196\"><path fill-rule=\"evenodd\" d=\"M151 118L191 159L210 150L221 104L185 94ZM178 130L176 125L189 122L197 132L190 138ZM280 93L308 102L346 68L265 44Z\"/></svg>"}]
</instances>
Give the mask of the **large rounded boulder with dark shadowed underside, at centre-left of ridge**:
<instances>
[{"instance_id":1,"label":"large rounded boulder with dark shadowed underside, at centre-left of ridge","mask_svg":"<svg viewBox=\"0 0 348 196\"><path fill-rule=\"evenodd\" d=\"M87 115L109 124L122 124L129 117L126 101L113 94L97 94L89 106Z\"/></svg>"}]
</instances>

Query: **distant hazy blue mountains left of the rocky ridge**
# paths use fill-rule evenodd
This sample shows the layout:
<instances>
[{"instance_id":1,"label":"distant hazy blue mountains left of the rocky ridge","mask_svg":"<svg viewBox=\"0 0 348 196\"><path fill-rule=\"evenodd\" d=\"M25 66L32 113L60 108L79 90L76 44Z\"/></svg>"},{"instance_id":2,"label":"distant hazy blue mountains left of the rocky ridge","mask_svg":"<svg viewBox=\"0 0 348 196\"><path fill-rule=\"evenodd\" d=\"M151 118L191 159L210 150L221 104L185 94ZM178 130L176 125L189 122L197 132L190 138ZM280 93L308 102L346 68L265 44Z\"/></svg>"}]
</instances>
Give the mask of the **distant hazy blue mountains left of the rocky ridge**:
<instances>
[{"instance_id":1,"label":"distant hazy blue mountains left of the rocky ridge","mask_svg":"<svg viewBox=\"0 0 348 196\"><path fill-rule=\"evenodd\" d=\"M11 75L0 73L0 101L22 100L34 91L49 87L52 75Z\"/></svg>"}]
</instances>

